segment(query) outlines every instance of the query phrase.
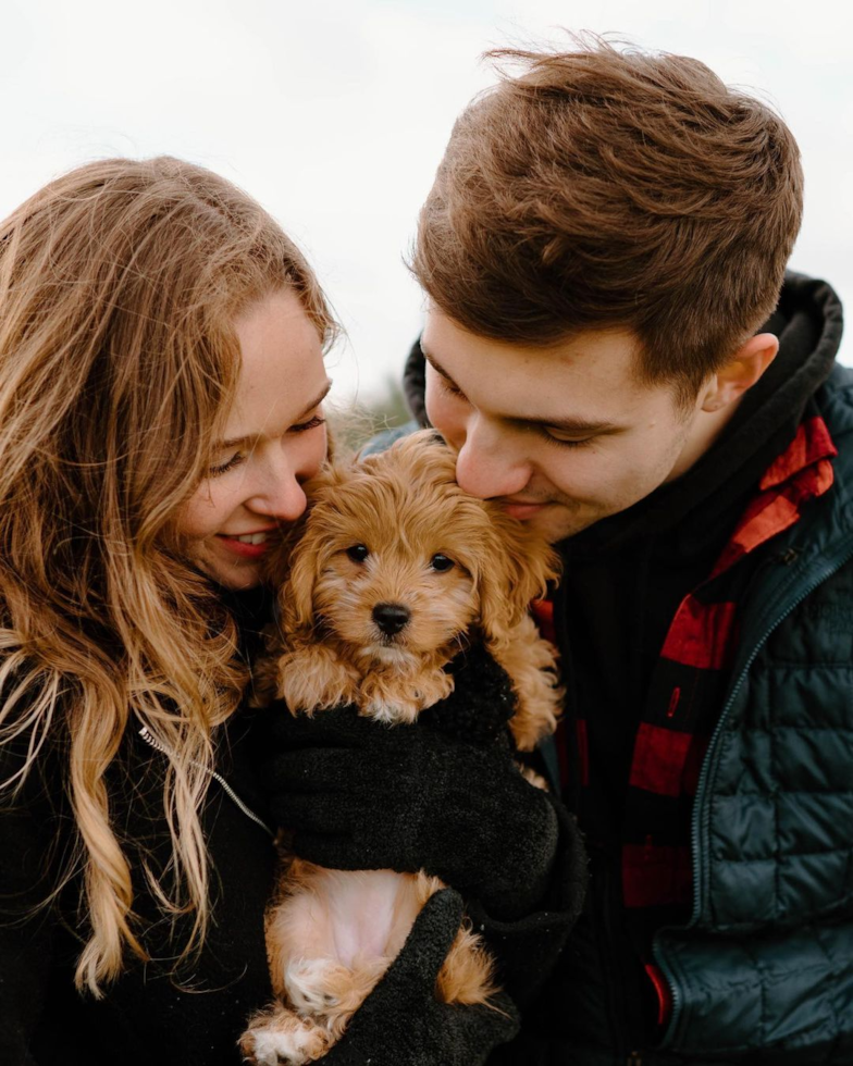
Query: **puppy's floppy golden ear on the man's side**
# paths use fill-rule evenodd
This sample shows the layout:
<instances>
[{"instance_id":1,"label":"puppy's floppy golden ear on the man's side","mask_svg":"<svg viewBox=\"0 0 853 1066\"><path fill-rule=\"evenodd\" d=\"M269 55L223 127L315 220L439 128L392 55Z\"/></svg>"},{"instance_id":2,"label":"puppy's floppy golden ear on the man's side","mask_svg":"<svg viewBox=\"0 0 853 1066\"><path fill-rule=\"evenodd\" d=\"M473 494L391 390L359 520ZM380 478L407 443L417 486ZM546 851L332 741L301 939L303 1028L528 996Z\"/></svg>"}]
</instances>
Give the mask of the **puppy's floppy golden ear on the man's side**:
<instances>
[{"instance_id":1,"label":"puppy's floppy golden ear on the man's side","mask_svg":"<svg viewBox=\"0 0 853 1066\"><path fill-rule=\"evenodd\" d=\"M497 507L489 510L494 542L478 582L480 624L486 643L499 647L511 640L530 602L544 596L548 581L559 577L559 558L528 526Z\"/></svg>"}]
</instances>

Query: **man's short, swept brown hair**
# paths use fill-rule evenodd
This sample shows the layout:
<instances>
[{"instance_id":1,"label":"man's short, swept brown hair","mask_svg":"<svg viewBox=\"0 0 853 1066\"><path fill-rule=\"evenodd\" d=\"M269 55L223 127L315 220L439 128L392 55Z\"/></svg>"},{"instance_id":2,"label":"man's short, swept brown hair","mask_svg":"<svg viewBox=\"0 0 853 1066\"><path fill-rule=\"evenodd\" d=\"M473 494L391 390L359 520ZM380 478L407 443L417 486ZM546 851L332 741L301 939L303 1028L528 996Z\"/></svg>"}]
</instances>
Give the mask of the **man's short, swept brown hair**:
<instances>
[{"instance_id":1,"label":"man's short, swept brown hair","mask_svg":"<svg viewBox=\"0 0 853 1066\"><path fill-rule=\"evenodd\" d=\"M462 112L412 270L474 334L551 345L622 326L640 373L695 396L770 314L802 215L796 142L683 55L577 38Z\"/></svg>"}]
</instances>

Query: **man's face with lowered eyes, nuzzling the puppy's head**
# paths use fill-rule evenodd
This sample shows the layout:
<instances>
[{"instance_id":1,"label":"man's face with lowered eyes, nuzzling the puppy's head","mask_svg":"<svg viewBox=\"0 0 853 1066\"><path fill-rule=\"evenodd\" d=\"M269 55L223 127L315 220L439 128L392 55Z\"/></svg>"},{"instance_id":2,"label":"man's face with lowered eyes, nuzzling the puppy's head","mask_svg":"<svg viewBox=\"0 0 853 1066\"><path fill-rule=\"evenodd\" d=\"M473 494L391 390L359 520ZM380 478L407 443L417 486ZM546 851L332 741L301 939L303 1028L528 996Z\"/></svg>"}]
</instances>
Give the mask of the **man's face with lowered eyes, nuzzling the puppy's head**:
<instances>
[{"instance_id":1,"label":"man's face with lowered eyes, nuzzling the puppy's head","mask_svg":"<svg viewBox=\"0 0 853 1066\"><path fill-rule=\"evenodd\" d=\"M701 396L684 410L671 386L639 381L628 331L543 349L475 336L432 310L421 344L426 411L459 454L459 485L552 543L679 476L709 443Z\"/></svg>"}]
</instances>

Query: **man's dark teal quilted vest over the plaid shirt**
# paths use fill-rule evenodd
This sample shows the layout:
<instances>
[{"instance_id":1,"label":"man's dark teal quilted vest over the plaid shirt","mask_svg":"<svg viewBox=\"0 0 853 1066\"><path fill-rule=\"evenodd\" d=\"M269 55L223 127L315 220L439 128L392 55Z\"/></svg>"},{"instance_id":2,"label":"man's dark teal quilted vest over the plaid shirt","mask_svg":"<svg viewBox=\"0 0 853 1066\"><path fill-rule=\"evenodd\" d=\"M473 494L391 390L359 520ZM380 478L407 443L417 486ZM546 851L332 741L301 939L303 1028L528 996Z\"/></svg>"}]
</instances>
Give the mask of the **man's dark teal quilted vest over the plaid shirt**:
<instances>
[{"instance_id":1,"label":"man's dark teal quilted vest over the plaid shirt","mask_svg":"<svg viewBox=\"0 0 853 1066\"><path fill-rule=\"evenodd\" d=\"M835 485L743 602L693 810L693 916L655 940L662 1063L853 1064L853 372L818 402Z\"/></svg>"}]
</instances>

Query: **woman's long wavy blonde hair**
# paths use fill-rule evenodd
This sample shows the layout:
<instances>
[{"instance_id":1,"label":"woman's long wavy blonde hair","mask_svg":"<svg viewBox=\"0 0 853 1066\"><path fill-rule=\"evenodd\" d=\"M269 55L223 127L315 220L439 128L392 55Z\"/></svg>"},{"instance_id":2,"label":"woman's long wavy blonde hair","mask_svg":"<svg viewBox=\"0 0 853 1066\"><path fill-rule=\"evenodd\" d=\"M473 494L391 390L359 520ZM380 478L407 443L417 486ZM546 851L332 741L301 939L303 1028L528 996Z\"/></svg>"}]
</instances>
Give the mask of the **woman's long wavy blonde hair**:
<instances>
[{"instance_id":1,"label":"woman's long wavy blonde hair","mask_svg":"<svg viewBox=\"0 0 853 1066\"><path fill-rule=\"evenodd\" d=\"M235 709L237 634L181 559L174 516L205 475L239 372L236 315L295 292L333 323L294 244L250 197L171 158L104 160L0 225L0 741L66 753L90 935L76 980L99 995L145 958L106 773L128 724L171 753L161 907L203 939L199 808L212 728ZM70 877L73 870L67 871Z\"/></svg>"}]
</instances>

